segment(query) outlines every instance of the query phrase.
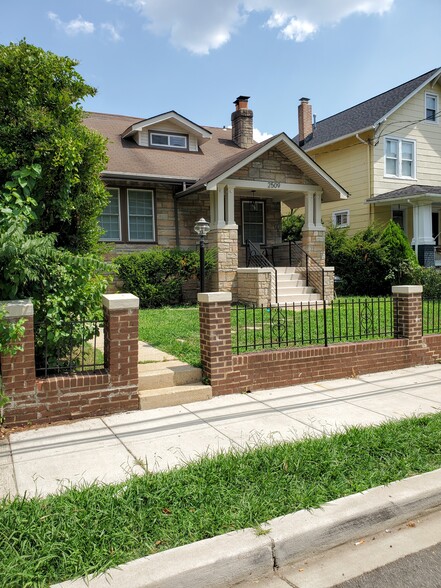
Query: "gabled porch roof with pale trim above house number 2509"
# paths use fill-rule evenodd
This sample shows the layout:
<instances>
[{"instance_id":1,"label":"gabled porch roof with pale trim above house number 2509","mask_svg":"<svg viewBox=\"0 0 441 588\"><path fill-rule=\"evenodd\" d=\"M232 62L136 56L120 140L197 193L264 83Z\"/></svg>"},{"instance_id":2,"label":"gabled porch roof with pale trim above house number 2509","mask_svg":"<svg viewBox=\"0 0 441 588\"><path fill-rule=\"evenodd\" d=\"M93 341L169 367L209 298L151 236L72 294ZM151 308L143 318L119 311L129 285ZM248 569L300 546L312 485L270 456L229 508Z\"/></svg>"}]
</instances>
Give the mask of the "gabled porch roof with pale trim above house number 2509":
<instances>
[{"instance_id":1,"label":"gabled porch roof with pale trim above house number 2509","mask_svg":"<svg viewBox=\"0 0 441 588\"><path fill-rule=\"evenodd\" d=\"M280 149L294 165L323 190L324 202L345 199L349 196L349 193L331 178L309 155L302 151L286 133L280 133L274 137L270 137L262 143L257 143L219 162L196 183L187 190L179 192L177 196L183 197L202 190L214 190L218 183L228 183L229 176L274 147ZM265 182L262 182L262 184L264 185ZM294 190L295 184L292 186ZM300 186L299 191L301 191Z\"/></svg>"}]
</instances>

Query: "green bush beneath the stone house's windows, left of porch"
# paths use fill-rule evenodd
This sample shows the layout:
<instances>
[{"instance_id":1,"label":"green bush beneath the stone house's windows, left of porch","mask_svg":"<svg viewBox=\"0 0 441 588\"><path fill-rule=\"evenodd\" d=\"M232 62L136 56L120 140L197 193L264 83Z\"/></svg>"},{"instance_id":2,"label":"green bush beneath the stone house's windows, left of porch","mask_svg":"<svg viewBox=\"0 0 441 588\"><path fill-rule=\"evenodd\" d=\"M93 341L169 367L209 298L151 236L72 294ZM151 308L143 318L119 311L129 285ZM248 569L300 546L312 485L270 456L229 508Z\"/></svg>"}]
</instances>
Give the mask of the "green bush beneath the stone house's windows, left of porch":
<instances>
[{"instance_id":1,"label":"green bush beneath the stone house's windows, left of porch","mask_svg":"<svg viewBox=\"0 0 441 588\"><path fill-rule=\"evenodd\" d=\"M138 296L142 308L182 302L182 285L198 277L199 252L180 249L150 249L121 255L115 260L123 288ZM206 252L205 272L209 275L214 256Z\"/></svg>"}]
</instances>

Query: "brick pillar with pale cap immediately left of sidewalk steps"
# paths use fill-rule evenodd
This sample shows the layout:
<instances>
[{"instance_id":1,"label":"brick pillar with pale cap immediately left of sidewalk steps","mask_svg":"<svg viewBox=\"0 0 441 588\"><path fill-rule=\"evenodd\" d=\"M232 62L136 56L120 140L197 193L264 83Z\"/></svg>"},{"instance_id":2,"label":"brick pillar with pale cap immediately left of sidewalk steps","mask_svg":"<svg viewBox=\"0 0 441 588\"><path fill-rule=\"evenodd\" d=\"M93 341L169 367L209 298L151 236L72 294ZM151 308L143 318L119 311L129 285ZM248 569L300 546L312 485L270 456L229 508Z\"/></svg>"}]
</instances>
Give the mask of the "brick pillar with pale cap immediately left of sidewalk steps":
<instances>
[{"instance_id":1,"label":"brick pillar with pale cap immediately left of sidewalk steps","mask_svg":"<svg viewBox=\"0 0 441 588\"><path fill-rule=\"evenodd\" d=\"M138 387L138 309L133 294L106 294L104 361L114 387Z\"/></svg>"}]
</instances>

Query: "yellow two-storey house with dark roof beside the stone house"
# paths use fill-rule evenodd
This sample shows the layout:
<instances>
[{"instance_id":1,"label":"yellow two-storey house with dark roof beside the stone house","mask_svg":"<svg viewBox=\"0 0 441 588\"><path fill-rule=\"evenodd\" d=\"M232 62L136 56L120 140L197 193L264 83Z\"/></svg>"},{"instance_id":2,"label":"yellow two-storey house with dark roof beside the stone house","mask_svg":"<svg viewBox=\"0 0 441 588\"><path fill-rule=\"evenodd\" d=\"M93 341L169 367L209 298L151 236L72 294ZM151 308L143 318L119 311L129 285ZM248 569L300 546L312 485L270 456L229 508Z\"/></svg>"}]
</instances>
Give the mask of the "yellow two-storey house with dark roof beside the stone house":
<instances>
[{"instance_id":1,"label":"yellow two-storey house with dark roof beside the stone house","mask_svg":"<svg viewBox=\"0 0 441 588\"><path fill-rule=\"evenodd\" d=\"M440 75L433 69L320 122L302 98L294 139L350 193L323 205L325 225L353 233L393 219L426 266L441 264Z\"/></svg>"}]
</instances>

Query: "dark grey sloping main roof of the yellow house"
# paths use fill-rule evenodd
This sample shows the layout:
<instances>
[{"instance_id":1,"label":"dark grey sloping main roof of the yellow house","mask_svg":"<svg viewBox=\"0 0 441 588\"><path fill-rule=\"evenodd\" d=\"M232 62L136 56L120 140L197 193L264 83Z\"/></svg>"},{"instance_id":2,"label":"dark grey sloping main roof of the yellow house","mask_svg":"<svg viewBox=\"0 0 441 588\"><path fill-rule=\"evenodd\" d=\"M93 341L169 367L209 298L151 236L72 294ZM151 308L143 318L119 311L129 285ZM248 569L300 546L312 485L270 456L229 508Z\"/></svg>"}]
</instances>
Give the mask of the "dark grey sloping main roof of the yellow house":
<instances>
[{"instance_id":1,"label":"dark grey sloping main roof of the yellow house","mask_svg":"<svg viewBox=\"0 0 441 588\"><path fill-rule=\"evenodd\" d=\"M384 118L419 92L422 87L440 75L441 68L432 69L396 88L317 122L312 134L306 137L303 149L309 151L314 147L333 143L344 137L375 128ZM298 135L294 141L298 144Z\"/></svg>"}]
</instances>

